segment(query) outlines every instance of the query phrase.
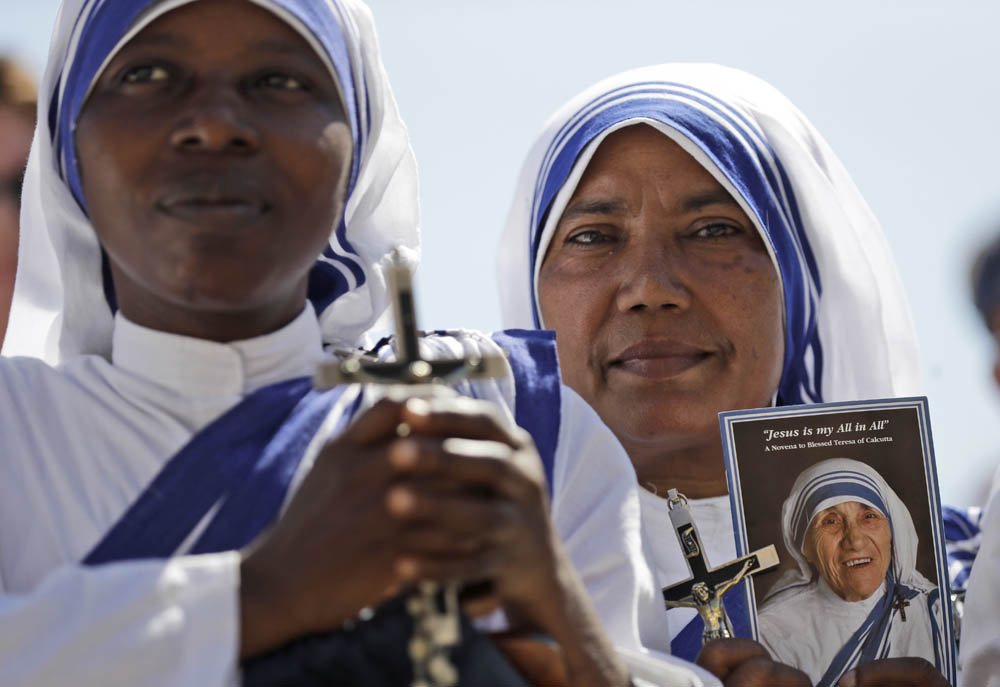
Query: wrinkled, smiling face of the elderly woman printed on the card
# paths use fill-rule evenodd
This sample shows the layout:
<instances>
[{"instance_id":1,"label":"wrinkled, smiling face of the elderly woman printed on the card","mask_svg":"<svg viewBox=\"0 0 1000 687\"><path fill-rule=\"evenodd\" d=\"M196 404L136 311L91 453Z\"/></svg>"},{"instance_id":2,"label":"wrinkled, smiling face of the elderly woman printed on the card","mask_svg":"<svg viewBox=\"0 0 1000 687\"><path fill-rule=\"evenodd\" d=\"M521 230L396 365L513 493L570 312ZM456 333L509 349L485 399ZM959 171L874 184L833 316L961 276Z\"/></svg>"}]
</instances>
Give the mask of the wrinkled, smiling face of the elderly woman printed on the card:
<instances>
[{"instance_id":1,"label":"wrinkled, smiling face of the elderly woman printed on the card","mask_svg":"<svg viewBox=\"0 0 1000 687\"><path fill-rule=\"evenodd\" d=\"M892 528L884 515L847 501L813 516L802 553L844 601L874 594L892 561Z\"/></svg>"}]
</instances>

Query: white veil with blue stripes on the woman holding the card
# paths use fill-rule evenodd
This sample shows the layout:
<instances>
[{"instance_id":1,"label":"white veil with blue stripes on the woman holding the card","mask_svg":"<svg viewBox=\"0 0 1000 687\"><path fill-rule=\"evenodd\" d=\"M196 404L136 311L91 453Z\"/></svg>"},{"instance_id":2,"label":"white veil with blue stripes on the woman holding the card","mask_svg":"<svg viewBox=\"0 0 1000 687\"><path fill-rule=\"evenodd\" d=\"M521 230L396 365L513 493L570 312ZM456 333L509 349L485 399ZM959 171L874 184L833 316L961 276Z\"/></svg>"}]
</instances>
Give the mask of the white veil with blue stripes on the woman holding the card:
<instances>
[{"instance_id":1,"label":"white veil with blue stripes on the woman holding the card","mask_svg":"<svg viewBox=\"0 0 1000 687\"><path fill-rule=\"evenodd\" d=\"M563 209L600 143L639 123L700 162L764 237L785 303L779 404L918 392L909 308L857 187L784 96L717 65L624 72L549 119L525 161L500 244L505 326L544 326L538 270Z\"/></svg>"}]
</instances>

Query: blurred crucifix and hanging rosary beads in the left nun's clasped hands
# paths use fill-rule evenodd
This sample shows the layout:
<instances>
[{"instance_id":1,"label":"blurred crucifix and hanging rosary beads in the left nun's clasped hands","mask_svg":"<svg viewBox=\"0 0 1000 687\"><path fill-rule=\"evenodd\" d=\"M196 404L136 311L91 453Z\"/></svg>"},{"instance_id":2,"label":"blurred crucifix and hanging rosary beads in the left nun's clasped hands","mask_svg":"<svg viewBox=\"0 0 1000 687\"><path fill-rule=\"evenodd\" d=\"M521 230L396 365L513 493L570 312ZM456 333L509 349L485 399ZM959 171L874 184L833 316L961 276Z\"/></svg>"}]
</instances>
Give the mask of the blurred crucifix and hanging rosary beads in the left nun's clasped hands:
<instances>
[{"instance_id":1,"label":"blurred crucifix and hanging rosary beads in the left nun's clasped hands","mask_svg":"<svg viewBox=\"0 0 1000 687\"><path fill-rule=\"evenodd\" d=\"M413 299L413 279L399 249L393 251L388 269L396 338L395 362L383 363L370 357L354 356L320 365L314 384L329 389L341 384L384 384L387 396L403 401L414 396L454 394L451 385L465 379L501 377L506 373L502 356L424 360L418 349L419 333ZM403 437L410 428L401 423L396 433ZM406 603L413 617L409 654L413 663L412 687L454 687L458 670L448 650L461 640L458 585L444 587L433 582L417 585Z\"/></svg>"}]
</instances>

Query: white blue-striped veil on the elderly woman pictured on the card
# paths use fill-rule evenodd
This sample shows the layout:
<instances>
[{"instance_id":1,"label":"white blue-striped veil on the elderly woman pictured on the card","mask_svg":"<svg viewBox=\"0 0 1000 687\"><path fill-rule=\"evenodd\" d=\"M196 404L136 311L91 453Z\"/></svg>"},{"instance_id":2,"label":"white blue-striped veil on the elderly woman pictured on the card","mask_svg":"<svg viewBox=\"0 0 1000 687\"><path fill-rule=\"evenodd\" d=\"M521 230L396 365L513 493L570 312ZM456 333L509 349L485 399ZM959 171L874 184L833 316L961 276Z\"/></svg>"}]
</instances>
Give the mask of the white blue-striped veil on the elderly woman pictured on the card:
<instances>
[{"instance_id":1,"label":"white blue-striped veil on the elderly woman pictured on the card","mask_svg":"<svg viewBox=\"0 0 1000 687\"><path fill-rule=\"evenodd\" d=\"M809 524L820 511L848 501L871 506L889 520L892 565L887 574L921 591L934 587L917 571L920 540L906 504L872 467L850 458L830 458L803 470L782 504L781 530L785 548L799 569L782 575L768 596L813 581L812 567L802 552Z\"/></svg>"}]
</instances>

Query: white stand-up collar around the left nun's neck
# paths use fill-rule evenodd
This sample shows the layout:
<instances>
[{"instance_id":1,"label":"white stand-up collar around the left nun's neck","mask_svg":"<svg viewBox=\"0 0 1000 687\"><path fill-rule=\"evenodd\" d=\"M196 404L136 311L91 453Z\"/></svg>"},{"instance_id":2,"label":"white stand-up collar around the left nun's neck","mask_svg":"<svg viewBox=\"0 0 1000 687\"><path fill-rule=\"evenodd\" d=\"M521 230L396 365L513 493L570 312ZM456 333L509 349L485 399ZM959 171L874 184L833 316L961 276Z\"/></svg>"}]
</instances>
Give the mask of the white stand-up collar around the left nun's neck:
<instances>
[{"instance_id":1,"label":"white stand-up collar around the left nun's neck","mask_svg":"<svg viewBox=\"0 0 1000 687\"><path fill-rule=\"evenodd\" d=\"M156 331L115 315L112 364L183 396L243 396L269 384L311 376L323 359L311 304L281 329L216 343Z\"/></svg>"}]
</instances>

